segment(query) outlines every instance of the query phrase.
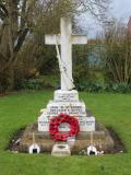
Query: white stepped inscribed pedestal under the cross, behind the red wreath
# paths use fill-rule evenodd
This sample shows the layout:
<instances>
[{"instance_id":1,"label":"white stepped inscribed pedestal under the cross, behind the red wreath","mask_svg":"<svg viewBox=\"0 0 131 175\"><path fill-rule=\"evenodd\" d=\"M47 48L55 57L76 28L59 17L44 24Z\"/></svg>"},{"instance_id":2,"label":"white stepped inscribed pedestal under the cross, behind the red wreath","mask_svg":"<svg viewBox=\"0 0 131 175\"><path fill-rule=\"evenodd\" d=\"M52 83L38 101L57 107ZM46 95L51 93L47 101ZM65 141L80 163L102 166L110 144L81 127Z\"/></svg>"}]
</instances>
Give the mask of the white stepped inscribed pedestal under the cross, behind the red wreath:
<instances>
[{"instance_id":1,"label":"white stepped inscribed pedestal under the cross, behind the red wreath","mask_svg":"<svg viewBox=\"0 0 131 175\"><path fill-rule=\"evenodd\" d=\"M78 118L80 131L95 131L95 117L86 113L85 104L79 101L79 93L75 90L56 91L53 101L50 101L47 108L41 112L41 115L38 117L38 131L49 131L50 119L60 114L68 114ZM69 131L66 125L62 126L62 129Z\"/></svg>"}]
</instances>

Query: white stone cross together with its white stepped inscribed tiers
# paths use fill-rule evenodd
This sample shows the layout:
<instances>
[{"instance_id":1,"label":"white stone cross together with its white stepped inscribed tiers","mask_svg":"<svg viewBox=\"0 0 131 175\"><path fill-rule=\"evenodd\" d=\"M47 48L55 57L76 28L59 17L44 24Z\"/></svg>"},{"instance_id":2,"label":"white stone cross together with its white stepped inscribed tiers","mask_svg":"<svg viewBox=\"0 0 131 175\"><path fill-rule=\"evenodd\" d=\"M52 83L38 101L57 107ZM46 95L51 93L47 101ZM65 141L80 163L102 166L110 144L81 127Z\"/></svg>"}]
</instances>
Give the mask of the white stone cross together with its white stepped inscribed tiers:
<instances>
[{"instance_id":1,"label":"white stone cross together with its white stepped inscribed tiers","mask_svg":"<svg viewBox=\"0 0 131 175\"><path fill-rule=\"evenodd\" d=\"M86 44L86 36L72 35L71 20L61 19L61 34L47 35L46 44L56 45L59 67L61 72L61 90L55 91L53 101L50 101L46 109L40 110L38 117L38 131L49 131L49 120L60 114L75 116L80 122L80 131L95 131L95 117L87 117L84 102L79 101L79 93L72 90L72 45ZM58 45L61 45L61 58ZM60 131L70 131L68 124L61 124Z\"/></svg>"}]
</instances>

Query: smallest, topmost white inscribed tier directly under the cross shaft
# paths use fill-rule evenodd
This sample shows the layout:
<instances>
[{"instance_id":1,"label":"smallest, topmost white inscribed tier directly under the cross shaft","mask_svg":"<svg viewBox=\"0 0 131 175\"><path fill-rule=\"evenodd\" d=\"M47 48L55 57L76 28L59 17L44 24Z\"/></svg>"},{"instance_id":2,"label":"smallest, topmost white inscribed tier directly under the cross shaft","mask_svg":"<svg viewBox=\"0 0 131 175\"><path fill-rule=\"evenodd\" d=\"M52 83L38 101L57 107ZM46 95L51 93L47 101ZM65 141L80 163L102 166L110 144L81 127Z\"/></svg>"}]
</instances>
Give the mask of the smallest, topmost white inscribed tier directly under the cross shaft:
<instances>
[{"instance_id":1,"label":"smallest, topmost white inscribed tier directly under the cross shaft","mask_svg":"<svg viewBox=\"0 0 131 175\"><path fill-rule=\"evenodd\" d=\"M72 91L55 91L55 102L79 102L79 93L76 90Z\"/></svg>"}]
</instances>

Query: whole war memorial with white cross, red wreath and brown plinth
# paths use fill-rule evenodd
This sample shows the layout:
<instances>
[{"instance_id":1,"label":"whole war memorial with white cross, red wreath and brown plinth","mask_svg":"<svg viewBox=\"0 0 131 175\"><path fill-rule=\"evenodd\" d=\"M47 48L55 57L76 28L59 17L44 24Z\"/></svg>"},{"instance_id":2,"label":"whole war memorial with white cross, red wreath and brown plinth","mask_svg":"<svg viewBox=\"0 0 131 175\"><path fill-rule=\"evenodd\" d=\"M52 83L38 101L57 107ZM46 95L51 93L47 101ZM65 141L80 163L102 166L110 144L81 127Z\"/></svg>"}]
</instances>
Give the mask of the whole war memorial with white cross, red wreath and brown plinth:
<instances>
[{"instance_id":1,"label":"whole war memorial with white cross, red wreath and brown plinth","mask_svg":"<svg viewBox=\"0 0 131 175\"><path fill-rule=\"evenodd\" d=\"M73 35L71 19L61 18L60 34L46 35L45 43L57 49L60 90L56 90L53 100L40 109L37 121L25 128L17 151L56 156L110 153L115 147L110 132L86 108L73 83L72 45L86 45L87 36Z\"/></svg>"}]
</instances>

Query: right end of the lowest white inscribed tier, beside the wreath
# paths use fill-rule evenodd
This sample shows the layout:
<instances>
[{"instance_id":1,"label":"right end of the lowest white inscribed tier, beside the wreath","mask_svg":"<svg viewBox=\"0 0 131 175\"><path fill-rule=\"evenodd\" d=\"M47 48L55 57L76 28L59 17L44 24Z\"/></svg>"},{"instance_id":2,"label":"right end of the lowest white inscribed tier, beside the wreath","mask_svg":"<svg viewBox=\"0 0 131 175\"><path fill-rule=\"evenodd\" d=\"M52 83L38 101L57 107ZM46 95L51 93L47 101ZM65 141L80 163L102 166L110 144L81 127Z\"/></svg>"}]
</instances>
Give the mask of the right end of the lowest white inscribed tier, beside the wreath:
<instances>
[{"instance_id":1,"label":"right end of the lowest white inscribed tier, beside the wreath","mask_svg":"<svg viewBox=\"0 0 131 175\"><path fill-rule=\"evenodd\" d=\"M95 131L95 117L80 117L80 131Z\"/></svg>"}]
</instances>

